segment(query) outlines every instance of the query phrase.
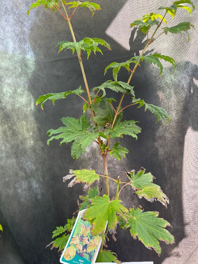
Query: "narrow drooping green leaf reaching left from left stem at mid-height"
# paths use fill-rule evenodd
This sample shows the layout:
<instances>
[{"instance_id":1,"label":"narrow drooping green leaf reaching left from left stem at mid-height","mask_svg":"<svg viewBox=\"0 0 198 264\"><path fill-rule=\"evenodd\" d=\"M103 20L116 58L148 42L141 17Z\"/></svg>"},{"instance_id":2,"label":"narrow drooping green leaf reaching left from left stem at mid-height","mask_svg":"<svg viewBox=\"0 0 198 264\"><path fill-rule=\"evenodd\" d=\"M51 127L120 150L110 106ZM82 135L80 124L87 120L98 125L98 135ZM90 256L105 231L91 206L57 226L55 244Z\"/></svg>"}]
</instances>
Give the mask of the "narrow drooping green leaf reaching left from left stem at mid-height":
<instances>
[{"instance_id":1,"label":"narrow drooping green leaf reaching left from left stem at mid-height","mask_svg":"<svg viewBox=\"0 0 198 264\"><path fill-rule=\"evenodd\" d=\"M62 92L62 93L48 93L48 94L44 94L41 95L37 100L36 100L36 105L41 104L41 108L43 109L43 104L45 101L52 100L52 103L54 104L55 100L59 100L59 99L64 99L66 98L69 94L81 94L81 93L85 93L84 90L81 89L81 86L76 89L76 90L72 90L72 91L67 91L67 92Z\"/></svg>"}]
</instances>

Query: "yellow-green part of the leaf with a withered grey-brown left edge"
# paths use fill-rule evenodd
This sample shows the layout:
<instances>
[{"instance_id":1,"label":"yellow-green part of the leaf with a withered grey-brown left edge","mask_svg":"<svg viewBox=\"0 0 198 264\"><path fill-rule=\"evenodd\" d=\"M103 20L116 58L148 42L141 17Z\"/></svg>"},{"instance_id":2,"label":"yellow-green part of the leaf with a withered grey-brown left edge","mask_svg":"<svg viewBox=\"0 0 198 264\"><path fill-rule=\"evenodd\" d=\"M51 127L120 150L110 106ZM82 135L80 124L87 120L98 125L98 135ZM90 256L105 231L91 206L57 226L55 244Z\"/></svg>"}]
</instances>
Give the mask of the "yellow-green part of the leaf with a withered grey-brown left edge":
<instances>
[{"instance_id":1,"label":"yellow-green part of the leaf with a withered grey-brown left edge","mask_svg":"<svg viewBox=\"0 0 198 264\"><path fill-rule=\"evenodd\" d=\"M75 170L73 173L76 175L76 180L80 182L86 182L87 184L91 185L94 181L100 180L98 174L95 173L94 170Z\"/></svg>"}]
</instances>

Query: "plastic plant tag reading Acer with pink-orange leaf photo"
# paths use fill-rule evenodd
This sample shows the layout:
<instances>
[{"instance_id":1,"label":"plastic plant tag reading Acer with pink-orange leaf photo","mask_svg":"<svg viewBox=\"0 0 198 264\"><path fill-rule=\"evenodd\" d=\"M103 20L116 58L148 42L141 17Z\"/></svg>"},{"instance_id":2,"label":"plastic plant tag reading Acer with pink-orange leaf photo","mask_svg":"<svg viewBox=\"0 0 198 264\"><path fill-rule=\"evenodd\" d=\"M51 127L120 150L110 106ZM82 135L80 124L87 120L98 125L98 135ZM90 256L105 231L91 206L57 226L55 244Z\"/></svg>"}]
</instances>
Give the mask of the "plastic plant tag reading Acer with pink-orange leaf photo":
<instances>
[{"instance_id":1,"label":"plastic plant tag reading Acer with pink-orange leaf photo","mask_svg":"<svg viewBox=\"0 0 198 264\"><path fill-rule=\"evenodd\" d=\"M72 232L62 252L61 263L93 264L96 260L102 238L101 235L92 237L90 223L81 219L85 210L78 213Z\"/></svg>"}]
</instances>

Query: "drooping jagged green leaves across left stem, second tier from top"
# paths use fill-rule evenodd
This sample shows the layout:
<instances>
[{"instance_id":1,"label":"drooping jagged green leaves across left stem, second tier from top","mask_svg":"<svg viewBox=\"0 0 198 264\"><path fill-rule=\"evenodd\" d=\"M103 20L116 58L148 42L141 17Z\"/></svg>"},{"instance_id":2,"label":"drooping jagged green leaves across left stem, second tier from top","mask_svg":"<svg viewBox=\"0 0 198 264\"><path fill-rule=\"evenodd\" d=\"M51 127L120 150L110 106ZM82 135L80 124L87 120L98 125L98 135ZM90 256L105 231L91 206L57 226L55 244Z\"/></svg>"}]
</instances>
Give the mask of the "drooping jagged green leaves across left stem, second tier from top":
<instances>
[{"instance_id":1,"label":"drooping jagged green leaves across left stem, second tier from top","mask_svg":"<svg viewBox=\"0 0 198 264\"><path fill-rule=\"evenodd\" d=\"M61 41L57 45L60 46L58 52L66 49L71 49L73 53L76 50L77 53L80 54L81 50L84 50L87 52L87 59L88 59L91 51L94 51L95 54L96 51L99 51L102 54L101 49L98 48L99 44L111 50L110 45L106 41L100 38L86 37L83 40L80 40L79 42Z\"/></svg>"}]
</instances>

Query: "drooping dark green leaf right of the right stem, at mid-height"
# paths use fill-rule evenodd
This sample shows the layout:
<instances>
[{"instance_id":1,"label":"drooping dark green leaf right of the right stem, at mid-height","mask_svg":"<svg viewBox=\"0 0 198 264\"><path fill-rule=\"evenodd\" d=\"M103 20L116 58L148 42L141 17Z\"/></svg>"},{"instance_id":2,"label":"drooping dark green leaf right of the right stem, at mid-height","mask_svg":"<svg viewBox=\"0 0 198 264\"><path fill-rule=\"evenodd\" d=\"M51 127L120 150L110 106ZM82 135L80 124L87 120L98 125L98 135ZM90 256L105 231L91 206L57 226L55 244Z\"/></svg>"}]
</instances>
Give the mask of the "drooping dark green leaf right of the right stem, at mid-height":
<instances>
[{"instance_id":1,"label":"drooping dark green leaf right of the right stem, at mid-height","mask_svg":"<svg viewBox=\"0 0 198 264\"><path fill-rule=\"evenodd\" d=\"M143 105L145 105L145 111L148 109L155 117L157 117L157 119L158 119L157 122L160 121L160 120L162 121L162 125L164 123L164 119L165 118L168 118L167 123L170 121L170 118L169 118L167 112L163 108L161 108L159 106L156 106L156 105L153 105L153 104L147 104L147 103L144 102L144 99L141 100L140 98L139 99L133 98L132 104L133 103L140 104L139 107L137 107L137 108L140 108Z\"/></svg>"}]
</instances>

